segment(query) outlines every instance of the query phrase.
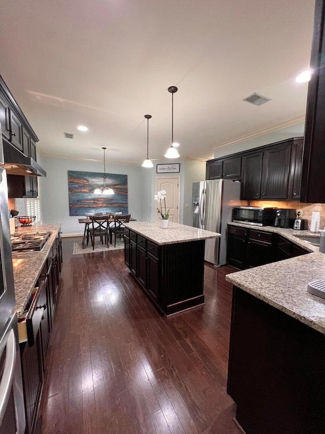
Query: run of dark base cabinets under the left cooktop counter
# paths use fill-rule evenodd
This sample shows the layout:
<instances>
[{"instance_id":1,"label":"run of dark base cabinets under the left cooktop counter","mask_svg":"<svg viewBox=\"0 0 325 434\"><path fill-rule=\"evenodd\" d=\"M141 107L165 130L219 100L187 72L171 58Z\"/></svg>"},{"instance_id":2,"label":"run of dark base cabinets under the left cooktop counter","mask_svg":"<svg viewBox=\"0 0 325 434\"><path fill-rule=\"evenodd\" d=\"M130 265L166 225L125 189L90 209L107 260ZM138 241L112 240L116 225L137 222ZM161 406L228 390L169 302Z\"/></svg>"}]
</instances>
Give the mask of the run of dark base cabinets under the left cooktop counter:
<instances>
[{"instance_id":1,"label":"run of dark base cabinets under the left cooktop counter","mask_svg":"<svg viewBox=\"0 0 325 434\"><path fill-rule=\"evenodd\" d=\"M44 371L62 267L60 234L54 242L31 295L28 311L18 319L26 431L34 434L41 400Z\"/></svg>"}]
</instances>

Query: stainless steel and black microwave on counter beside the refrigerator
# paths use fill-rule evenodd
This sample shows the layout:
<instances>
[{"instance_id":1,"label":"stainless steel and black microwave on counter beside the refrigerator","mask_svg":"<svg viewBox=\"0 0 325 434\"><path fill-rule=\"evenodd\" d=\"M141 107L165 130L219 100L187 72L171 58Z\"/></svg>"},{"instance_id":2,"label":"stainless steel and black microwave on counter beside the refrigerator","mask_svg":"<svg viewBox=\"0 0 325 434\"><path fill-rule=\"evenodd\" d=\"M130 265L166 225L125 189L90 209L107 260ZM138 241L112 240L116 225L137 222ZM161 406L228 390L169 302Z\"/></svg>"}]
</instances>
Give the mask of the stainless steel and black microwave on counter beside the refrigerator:
<instances>
[{"instance_id":1,"label":"stainless steel and black microwave on counter beside the refrigerator","mask_svg":"<svg viewBox=\"0 0 325 434\"><path fill-rule=\"evenodd\" d=\"M271 226L274 219L273 208L235 207L233 221L253 226Z\"/></svg>"}]
</instances>

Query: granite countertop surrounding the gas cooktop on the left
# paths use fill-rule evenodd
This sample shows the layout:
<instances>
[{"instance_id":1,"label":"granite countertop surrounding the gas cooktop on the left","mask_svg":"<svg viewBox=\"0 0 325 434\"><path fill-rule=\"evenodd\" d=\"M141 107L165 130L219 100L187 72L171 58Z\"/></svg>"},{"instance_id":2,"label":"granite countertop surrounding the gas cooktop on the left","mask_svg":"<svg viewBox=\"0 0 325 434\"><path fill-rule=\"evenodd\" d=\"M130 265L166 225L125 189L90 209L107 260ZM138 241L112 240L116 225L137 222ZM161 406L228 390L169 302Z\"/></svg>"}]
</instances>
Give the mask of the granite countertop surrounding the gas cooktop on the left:
<instances>
[{"instance_id":1,"label":"granite countertop surrounding the gas cooktop on the left","mask_svg":"<svg viewBox=\"0 0 325 434\"><path fill-rule=\"evenodd\" d=\"M16 297L15 311L18 317L23 312L28 298L34 289L60 227L60 224L33 224L31 226L19 227L18 229L19 232L24 233L36 232L37 230L46 230L47 232L51 232L50 238L42 251L12 254Z\"/></svg>"}]
</instances>

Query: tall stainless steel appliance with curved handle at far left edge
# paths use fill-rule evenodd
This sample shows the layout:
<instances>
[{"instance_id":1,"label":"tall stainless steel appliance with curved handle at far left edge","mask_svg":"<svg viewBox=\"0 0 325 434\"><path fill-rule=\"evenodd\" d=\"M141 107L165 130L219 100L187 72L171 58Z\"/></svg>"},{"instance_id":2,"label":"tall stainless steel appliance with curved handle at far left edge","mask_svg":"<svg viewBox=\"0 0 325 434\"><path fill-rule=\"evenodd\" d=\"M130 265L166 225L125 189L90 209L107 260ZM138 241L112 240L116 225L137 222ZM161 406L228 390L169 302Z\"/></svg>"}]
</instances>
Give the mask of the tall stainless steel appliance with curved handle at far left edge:
<instances>
[{"instance_id":1,"label":"tall stainless steel appliance with curved handle at far left edge","mask_svg":"<svg viewBox=\"0 0 325 434\"><path fill-rule=\"evenodd\" d=\"M0 137L2 137L0 126ZM3 162L0 146L0 163ZM0 434L23 434L21 381L6 171L0 168Z\"/></svg>"}]
</instances>

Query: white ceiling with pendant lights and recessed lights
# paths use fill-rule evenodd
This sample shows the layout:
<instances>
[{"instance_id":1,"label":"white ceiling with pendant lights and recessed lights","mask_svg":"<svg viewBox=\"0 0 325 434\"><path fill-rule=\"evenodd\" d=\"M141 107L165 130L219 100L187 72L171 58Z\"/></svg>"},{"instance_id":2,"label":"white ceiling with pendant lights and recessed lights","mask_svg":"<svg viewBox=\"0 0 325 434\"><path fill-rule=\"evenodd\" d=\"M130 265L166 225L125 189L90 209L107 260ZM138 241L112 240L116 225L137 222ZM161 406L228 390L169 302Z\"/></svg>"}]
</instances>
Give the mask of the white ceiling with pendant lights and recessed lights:
<instances>
[{"instance_id":1,"label":"white ceiling with pendant lights and recessed lights","mask_svg":"<svg viewBox=\"0 0 325 434\"><path fill-rule=\"evenodd\" d=\"M313 12L308 0L2 0L0 74L45 155L101 160L106 146L109 161L141 163L148 113L149 156L162 158L177 85L179 152L208 159L301 121ZM272 101L242 101L253 92Z\"/></svg>"}]
</instances>

